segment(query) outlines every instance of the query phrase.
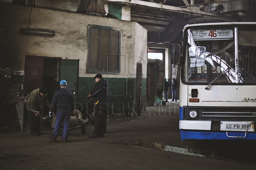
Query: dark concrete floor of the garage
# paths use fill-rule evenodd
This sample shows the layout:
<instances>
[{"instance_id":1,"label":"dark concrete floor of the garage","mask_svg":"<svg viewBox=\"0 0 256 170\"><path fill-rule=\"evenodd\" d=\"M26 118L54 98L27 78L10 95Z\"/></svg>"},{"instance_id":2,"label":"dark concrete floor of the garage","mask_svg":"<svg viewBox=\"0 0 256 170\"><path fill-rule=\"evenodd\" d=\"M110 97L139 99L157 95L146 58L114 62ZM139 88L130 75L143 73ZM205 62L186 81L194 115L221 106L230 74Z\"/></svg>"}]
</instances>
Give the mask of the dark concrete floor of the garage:
<instances>
[{"instance_id":1,"label":"dark concrete floor of the garage","mask_svg":"<svg viewBox=\"0 0 256 170\"><path fill-rule=\"evenodd\" d=\"M52 133L47 126L41 136L21 132L0 134L0 169L256 169L255 165L161 151L166 146L175 146L187 148L191 153L201 150L204 155L200 148L203 142L180 140L179 118L173 109L178 103L173 103L168 104L171 106L169 115L167 112L158 115L157 107L148 107L145 115L134 120L107 123L104 138L88 138L94 130L90 125L85 135L81 134L81 129L71 130L67 143L62 142L61 136L56 143L47 143Z\"/></svg>"}]
</instances>

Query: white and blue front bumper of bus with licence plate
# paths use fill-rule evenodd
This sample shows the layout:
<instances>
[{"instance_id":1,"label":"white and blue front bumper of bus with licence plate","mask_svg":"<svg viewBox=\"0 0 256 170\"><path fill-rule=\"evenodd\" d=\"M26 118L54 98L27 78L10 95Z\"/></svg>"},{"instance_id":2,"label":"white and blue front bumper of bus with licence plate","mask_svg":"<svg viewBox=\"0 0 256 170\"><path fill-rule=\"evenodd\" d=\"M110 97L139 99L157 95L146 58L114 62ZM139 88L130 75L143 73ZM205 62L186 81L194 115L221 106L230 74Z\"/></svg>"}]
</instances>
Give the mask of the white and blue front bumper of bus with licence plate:
<instances>
[{"instance_id":1,"label":"white and blue front bumper of bus with licence plate","mask_svg":"<svg viewBox=\"0 0 256 170\"><path fill-rule=\"evenodd\" d=\"M256 140L254 121L180 120L181 140Z\"/></svg>"}]
</instances>

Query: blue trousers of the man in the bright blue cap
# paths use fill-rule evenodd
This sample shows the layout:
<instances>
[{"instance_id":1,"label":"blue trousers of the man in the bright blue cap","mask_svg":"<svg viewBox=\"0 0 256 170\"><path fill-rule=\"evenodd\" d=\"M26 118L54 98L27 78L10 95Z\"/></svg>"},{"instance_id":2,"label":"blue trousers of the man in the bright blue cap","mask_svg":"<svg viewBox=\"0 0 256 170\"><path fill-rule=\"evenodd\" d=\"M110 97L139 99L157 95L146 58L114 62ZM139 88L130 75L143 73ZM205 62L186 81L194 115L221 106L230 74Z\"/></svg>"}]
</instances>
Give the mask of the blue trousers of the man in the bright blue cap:
<instances>
[{"instance_id":1,"label":"blue trousers of the man in the bright blue cap","mask_svg":"<svg viewBox=\"0 0 256 170\"><path fill-rule=\"evenodd\" d=\"M56 141L57 137L60 133L60 126L63 122L63 131L62 131L62 140L68 140L68 128L69 128L69 118L70 118L70 109L66 109L64 111L59 111L56 113L56 120L53 129L53 134L50 137L50 141Z\"/></svg>"}]
</instances>

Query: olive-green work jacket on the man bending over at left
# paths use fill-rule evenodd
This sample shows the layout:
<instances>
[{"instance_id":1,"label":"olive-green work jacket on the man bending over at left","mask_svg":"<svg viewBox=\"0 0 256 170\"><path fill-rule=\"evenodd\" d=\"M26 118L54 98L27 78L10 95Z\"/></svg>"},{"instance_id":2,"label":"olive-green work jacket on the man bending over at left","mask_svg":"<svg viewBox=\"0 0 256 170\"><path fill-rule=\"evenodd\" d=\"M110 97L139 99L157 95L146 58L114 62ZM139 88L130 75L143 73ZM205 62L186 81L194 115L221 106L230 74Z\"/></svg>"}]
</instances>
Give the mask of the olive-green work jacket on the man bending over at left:
<instances>
[{"instance_id":1,"label":"olive-green work jacket on the man bending over at left","mask_svg":"<svg viewBox=\"0 0 256 170\"><path fill-rule=\"evenodd\" d=\"M27 110L40 112L41 104L44 102L48 108L50 108L50 102L47 96L41 96L39 89L33 90L27 100Z\"/></svg>"}]
</instances>

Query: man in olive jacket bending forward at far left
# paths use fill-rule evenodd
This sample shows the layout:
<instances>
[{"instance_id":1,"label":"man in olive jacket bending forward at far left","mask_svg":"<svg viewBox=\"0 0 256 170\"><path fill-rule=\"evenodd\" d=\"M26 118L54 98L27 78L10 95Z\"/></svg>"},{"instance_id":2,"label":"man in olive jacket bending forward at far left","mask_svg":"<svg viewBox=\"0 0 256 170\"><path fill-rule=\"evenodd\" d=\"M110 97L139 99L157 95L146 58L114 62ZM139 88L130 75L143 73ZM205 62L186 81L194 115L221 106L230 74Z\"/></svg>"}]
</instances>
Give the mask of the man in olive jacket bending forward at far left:
<instances>
[{"instance_id":1,"label":"man in olive jacket bending forward at far left","mask_svg":"<svg viewBox=\"0 0 256 170\"><path fill-rule=\"evenodd\" d=\"M46 87L40 87L39 89L33 90L30 93L30 96L27 100L27 115L28 115L28 124L30 125L31 135L39 136L42 135L42 132L39 131L40 128L40 112L41 104L44 102L48 108L50 108L50 102L47 98L47 89Z\"/></svg>"}]
</instances>

